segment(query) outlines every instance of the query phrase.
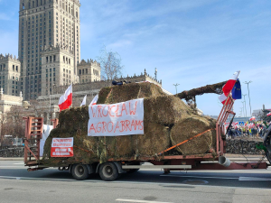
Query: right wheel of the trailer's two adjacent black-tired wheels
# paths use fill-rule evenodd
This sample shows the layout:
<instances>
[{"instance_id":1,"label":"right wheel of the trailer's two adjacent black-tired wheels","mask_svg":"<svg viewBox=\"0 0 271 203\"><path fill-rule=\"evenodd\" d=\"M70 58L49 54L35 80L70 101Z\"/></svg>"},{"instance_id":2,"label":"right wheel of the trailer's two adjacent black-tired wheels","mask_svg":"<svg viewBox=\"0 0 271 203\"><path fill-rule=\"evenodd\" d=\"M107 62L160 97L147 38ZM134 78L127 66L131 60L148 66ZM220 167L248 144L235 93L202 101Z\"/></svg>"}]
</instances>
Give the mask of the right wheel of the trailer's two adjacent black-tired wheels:
<instances>
[{"instance_id":1,"label":"right wheel of the trailer's two adjacent black-tired wheels","mask_svg":"<svg viewBox=\"0 0 271 203\"><path fill-rule=\"evenodd\" d=\"M98 167L98 174L105 181L117 180L117 166L113 162L105 162Z\"/></svg>"}]
</instances>

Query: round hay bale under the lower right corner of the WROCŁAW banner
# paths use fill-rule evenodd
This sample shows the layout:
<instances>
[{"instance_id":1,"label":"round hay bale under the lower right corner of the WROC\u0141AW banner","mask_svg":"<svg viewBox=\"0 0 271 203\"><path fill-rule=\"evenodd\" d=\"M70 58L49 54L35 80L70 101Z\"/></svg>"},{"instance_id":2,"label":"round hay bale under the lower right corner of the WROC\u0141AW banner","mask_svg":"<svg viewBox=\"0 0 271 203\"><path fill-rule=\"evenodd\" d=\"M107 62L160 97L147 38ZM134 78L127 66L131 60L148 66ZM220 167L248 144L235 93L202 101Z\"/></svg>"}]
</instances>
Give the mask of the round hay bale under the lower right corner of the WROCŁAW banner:
<instances>
[{"instance_id":1,"label":"round hay bale under the lower right corner of the WROC\u0141AW banner","mask_svg":"<svg viewBox=\"0 0 271 203\"><path fill-rule=\"evenodd\" d=\"M144 122L144 134L132 135L133 151L140 156L154 156L170 147L169 128Z\"/></svg>"}]
</instances>

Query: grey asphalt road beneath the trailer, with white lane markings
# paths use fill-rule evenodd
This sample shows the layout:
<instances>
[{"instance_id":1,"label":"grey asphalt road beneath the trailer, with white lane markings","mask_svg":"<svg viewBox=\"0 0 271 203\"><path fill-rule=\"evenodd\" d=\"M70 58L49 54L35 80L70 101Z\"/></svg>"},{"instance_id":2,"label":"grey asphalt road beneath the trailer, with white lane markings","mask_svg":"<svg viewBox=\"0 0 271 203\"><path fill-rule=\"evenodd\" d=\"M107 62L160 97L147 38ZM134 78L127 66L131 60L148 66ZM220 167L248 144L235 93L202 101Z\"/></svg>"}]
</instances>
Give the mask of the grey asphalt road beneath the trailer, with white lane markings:
<instances>
[{"instance_id":1,"label":"grey asphalt road beneath the trailer, with white lane markings","mask_svg":"<svg viewBox=\"0 0 271 203\"><path fill-rule=\"evenodd\" d=\"M0 161L0 202L271 202L271 170L138 171L114 182L73 180L67 171L26 171Z\"/></svg>"}]
</instances>

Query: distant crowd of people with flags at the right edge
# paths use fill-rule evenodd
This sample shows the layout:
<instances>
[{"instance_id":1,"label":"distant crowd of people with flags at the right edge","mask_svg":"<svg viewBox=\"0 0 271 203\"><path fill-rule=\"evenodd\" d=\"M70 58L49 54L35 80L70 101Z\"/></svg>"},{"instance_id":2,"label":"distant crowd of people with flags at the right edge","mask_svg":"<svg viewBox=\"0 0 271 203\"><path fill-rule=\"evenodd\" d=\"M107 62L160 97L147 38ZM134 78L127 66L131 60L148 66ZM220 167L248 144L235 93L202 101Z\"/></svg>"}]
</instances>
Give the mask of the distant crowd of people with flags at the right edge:
<instances>
[{"instance_id":1,"label":"distant crowd of people with flags at the right edge","mask_svg":"<svg viewBox=\"0 0 271 203\"><path fill-rule=\"evenodd\" d=\"M268 125L264 122L256 122L245 125L231 125L227 134L228 138L236 138L236 137L252 137L252 138L262 138L264 136L264 132L267 129ZM228 128L228 126L227 126Z\"/></svg>"}]
</instances>

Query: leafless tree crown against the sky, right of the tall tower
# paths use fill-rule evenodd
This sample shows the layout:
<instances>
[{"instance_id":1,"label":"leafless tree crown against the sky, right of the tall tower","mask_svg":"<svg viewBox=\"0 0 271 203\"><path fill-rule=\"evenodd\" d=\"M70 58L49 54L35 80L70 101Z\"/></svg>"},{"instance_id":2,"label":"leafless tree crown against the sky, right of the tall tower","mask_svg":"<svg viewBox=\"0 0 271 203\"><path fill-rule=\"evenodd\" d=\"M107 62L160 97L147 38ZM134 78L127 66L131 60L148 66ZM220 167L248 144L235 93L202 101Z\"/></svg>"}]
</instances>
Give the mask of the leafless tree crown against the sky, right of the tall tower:
<instances>
[{"instance_id":1,"label":"leafless tree crown against the sky, right of the tall tower","mask_svg":"<svg viewBox=\"0 0 271 203\"><path fill-rule=\"evenodd\" d=\"M121 57L117 52L107 51L106 46L100 50L98 62L101 68L102 79L116 79L122 74L124 66L121 65Z\"/></svg>"}]
</instances>

